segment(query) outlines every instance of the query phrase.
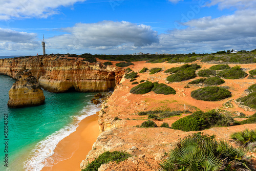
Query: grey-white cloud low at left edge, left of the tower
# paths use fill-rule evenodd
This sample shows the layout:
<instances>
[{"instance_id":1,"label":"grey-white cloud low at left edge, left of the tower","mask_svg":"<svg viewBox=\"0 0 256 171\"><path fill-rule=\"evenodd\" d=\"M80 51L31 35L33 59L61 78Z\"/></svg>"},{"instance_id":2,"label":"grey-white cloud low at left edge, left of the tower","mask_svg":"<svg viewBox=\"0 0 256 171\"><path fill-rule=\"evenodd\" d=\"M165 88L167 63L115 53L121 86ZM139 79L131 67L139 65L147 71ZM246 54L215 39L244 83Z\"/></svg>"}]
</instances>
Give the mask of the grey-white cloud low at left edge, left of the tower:
<instances>
[{"instance_id":1,"label":"grey-white cloud low at left edge, left of the tower","mask_svg":"<svg viewBox=\"0 0 256 171\"><path fill-rule=\"evenodd\" d=\"M35 33L17 32L0 28L0 49L17 51L32 50L39 46Z\"/></svg>"}]
</instances>

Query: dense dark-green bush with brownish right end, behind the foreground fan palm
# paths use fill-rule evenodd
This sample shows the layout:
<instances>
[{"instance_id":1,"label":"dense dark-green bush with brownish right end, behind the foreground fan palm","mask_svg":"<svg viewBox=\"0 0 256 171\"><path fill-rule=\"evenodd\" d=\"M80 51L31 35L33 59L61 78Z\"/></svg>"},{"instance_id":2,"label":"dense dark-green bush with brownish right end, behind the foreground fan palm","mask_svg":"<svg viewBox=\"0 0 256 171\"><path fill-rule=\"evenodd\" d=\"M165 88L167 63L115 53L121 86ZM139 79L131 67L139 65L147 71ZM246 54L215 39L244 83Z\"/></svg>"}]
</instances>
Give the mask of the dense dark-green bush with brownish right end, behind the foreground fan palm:
<instances>
[{"instance_id":1,"label":"dense dark-green bush with brownish right end, behind the foreground fan palm","mask_svg":"<svg viewBox=\"0 0 256 171\"><path fill-rule=\"evenodd\" d=\"M195 112L175 121L172 129L181 131L202 131L214 126L230 126L234 124L234 119L229 115L223 115L216 111L203 113Z\"/></svg>"}]
</instances>

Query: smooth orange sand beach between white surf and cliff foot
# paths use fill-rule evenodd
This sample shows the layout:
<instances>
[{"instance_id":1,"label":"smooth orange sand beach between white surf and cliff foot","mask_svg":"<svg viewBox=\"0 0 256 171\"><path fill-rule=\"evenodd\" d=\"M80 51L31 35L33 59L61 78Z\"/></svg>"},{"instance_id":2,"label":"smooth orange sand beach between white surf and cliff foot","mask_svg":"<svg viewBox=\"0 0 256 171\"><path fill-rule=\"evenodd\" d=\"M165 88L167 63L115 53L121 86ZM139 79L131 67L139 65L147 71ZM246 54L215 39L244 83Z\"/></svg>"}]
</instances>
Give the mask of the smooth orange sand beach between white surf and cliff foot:
<instances>
[{"instance_id":1,"label":"smooth orange sand beach between white surf and cliff foot","mask_svg":"<svg viewBox=\"0 0 256 171\"><path fill-rule=\"evenodd\" d=\"M99 135L98 112L83 119L76 131L61 140L54 149L54 154L47 159L52 166L45 166L43 171L62 170L80 171L80 163L86 159L93 143Z\"/></svg>"}]
</instances>

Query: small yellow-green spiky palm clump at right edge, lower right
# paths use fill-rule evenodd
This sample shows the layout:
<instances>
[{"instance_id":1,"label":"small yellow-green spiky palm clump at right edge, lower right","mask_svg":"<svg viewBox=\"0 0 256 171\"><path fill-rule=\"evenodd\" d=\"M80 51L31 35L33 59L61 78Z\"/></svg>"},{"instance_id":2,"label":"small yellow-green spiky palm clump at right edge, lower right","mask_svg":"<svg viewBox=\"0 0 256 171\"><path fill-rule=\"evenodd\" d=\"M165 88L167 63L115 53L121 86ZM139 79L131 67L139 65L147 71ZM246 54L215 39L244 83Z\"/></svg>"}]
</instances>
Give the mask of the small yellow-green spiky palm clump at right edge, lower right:
<instances>
[{"instance_id":1,"label":"small yellow-green spiky palm clump at right edge, lower right","mask_svg":"<svg viewBox=\"0 0 256 171\"><path fill-rule=\"evenodd\" d=\"M256 142L256 130L244 130L241 132L233 133L230 136L233 140L246 147L251 142Z\"/></svg>"}]
</instances>

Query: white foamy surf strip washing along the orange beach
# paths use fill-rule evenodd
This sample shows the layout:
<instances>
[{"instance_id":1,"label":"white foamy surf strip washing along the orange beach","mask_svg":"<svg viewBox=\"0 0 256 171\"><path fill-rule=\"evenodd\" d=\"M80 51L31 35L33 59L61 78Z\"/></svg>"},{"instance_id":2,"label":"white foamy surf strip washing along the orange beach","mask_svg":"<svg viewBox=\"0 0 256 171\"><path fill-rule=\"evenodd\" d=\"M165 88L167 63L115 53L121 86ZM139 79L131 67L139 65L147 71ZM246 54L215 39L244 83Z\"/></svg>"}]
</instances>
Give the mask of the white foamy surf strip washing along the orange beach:
<instances>
[{"instance_id":1,"label":"white foamy surf strip washing along the orange beach","mask_svg":"<svg viewBox=\"0 0 256 171\"><path fill-rule=\"evenodd\" d=\"M47 163L47 158L54 154L54 149L57 144L65 137L69 136L71 133L76 131L78 123L84 118L94 115L96 112L100 111L100 104L98 105L87 105L84 106L83 110L80 111L79 116L72 116L74 119L73 124L69 124L64 128L56 131L55 133L49 135L44 140L38 142L32 152L29 154L27 161L24 162L25 170L29 171L39 171L44 166L50 164Z\"/></svg>"}]
</instances>

